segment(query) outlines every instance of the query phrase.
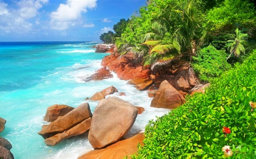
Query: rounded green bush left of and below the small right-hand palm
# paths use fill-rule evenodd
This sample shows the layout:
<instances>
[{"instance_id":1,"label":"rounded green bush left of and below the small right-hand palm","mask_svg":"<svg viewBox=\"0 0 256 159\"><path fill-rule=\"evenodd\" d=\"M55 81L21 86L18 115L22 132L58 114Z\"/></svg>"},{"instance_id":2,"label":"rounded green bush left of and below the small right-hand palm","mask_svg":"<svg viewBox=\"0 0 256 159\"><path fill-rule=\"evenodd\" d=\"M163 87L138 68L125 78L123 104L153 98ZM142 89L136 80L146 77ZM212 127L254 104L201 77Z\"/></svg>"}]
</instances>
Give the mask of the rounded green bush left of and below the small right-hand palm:
<instances>
[{"instance_id":1,"label":"rounded green bush left of and below the small right-hand palm","mask_svg":"<svg viewBox=\"0 0 256 159\"><path fill-rule=\"evenodd\" d=\"M229 70L231 66L226 62L226 53L224 50L216 50L209 45L201 49L192 63L193 69L204 81L212 81L213 78L220 76L224 71Z\"/></svg>"}]
</instances>

